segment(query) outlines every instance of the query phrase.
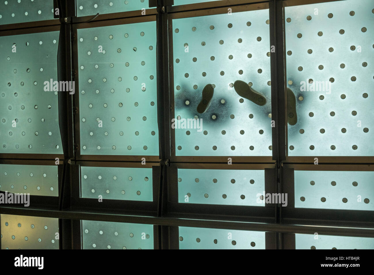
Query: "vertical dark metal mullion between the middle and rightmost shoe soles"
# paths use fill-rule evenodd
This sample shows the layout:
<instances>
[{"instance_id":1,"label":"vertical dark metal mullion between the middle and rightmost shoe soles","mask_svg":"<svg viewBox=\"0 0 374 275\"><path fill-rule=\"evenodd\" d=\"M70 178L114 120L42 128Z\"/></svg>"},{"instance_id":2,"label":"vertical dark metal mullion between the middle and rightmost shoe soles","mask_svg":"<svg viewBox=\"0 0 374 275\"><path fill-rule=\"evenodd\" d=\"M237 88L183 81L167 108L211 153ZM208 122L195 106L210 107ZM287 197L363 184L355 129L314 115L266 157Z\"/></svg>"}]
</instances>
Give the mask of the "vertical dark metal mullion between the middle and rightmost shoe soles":
<instances>
[{"instance_id":1,"label":"vertical dark metal mullion between the middle and rightmost shoe soles","mask_svg":"<svg viewBox=\"0 0 374 275\"><path fill-rule=\"evenodd\" d=\"M272 81L272 129L273 159L276 160L276 190L282 192L282 161L286 159L286 119L285 119L285 40L283 1L269 2L271 81ZM276 205L276 223L281 223L281 208ZM277 233L277 249L282 248L282 235Z\"/></svg>"}]
</instances>

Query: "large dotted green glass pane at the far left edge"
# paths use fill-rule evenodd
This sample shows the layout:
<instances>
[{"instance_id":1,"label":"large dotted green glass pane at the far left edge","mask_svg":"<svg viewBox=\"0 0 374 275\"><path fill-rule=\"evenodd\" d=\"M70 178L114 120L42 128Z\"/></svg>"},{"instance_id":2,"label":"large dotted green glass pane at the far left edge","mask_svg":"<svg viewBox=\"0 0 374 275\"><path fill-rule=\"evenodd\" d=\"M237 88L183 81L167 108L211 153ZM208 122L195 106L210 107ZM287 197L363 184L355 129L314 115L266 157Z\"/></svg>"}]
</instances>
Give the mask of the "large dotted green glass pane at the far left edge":
<instances>
[{"instance_id":1,"label":"large dotted green glass pane at the far left edge","mask_svg":"<svg viewBox=\"0 0 374 275\"><path fill-rule=\"evenodd\" d=\"M50 83L58 83L58 37L58 31L1 37L0 153L63 153L58 92Z\"/></svg>"}]
</instances>

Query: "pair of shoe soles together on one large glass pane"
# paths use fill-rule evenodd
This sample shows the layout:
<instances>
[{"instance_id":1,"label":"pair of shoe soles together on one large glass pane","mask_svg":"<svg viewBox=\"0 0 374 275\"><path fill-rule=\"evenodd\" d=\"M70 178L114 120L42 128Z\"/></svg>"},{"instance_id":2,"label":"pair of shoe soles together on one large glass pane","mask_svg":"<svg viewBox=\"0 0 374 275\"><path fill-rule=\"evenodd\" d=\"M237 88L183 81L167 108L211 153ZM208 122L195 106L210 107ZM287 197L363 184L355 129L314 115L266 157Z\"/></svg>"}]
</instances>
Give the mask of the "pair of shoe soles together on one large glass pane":
<instances>
[{"instance_id":1,"label":"pair of shoe soles together on one large glass pane","mask_svg":"<svg viewBox=\"0 0 374 275\"><path fill-rule=\"evenodd\" d=\"M234 82L234 89L240 97L246 98L259 106L264 106L266 104L266 98L259 92L249 87L248 84L242 80L236 80ZM213 98L213 94L214 88L211 84L207 84L202 92L202 100L200 101L199 105L197 105L197 112L202 114L208 109L209 103Z\"/></svg>"}]
</instances>

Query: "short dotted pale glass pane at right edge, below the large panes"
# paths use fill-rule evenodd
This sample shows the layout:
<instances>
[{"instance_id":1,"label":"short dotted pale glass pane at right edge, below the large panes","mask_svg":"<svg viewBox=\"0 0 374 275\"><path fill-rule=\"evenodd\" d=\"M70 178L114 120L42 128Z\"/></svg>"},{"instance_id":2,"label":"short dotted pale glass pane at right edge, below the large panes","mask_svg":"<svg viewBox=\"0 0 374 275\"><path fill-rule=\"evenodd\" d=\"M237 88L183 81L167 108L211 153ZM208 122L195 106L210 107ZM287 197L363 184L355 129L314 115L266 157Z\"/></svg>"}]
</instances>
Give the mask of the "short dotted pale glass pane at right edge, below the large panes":
<instances>
[{"instance_id":1,"label":"short dotted pale glass pane at right edge, below the large panes","mask_svg":"<svg viewBox=\"0 0 374 275\"><path fill-rule=\"evenodd\" d=\"M295 207L374 210L372 171L296 171Z\"/></svg>"}]
</instances>

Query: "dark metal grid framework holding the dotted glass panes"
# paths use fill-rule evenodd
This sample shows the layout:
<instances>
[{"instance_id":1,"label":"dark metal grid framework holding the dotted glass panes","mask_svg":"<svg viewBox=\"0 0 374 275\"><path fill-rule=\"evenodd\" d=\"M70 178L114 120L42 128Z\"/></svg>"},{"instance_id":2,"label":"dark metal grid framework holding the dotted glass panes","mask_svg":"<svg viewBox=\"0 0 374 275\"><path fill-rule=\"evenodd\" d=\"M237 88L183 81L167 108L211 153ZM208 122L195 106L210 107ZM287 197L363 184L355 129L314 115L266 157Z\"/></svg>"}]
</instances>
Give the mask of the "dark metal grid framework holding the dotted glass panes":
<instances>
[{"instance_id":1,"label":"dark metal grid framework holding the dotted glass panes","mask_svg":"<svg viewBox=\"0 0 374 275\"><path fill-rule=\"evenodd\" d=\"M180 230L182 229L184 234L188 235L188 232L199 231L199 228L205 228L204 230L211 228L216 230L214 232L224 232L223 229L229 229L233 232L237 230L255 232L252 235L256 235L257 232L257 235L264 238L261 239L264 243L261 242L261 246L254 248L266 249L298 248L295 244L295 234L313 235L318 232L320 235L329 236L373 238L374 216L372 211L366 210L367 208L364 208L365 210L295 208L295 170L321 172L374 171L373 156L354 158L318 156L319 165L314 165L315 160L312 156L298 157L288 156L287 154L286 18L284 17L284 7L327 1L222 0L175 6L173 1L170 0L150 0L149 7L146 7L144 14L142 14L142 10L130 10L108 14L98 13L95 16L82 17L76 16L79 6L74 2L76 1L53 1L54 8L60 10L60 14L55 15L53 20L0 25L0 39L1 36L32 34L59 29L58 80L75 80L75 90L79 91L78 72L80 64L78 64L77 45L79 37L77 36L77 30L138 22L156 22L157 77L155 79L157 79L159 156L81 155L80 149L82 146L79 144L79 92L74 95L59 92L59 128L64 154L0 154L0 165L8 166L55 165L55 158L59 158L59 196L31 195L30 207L0 205L1 214L58 218L60 249L85 248L89 239L84 236L85 232L82 231L84 230L82 224L90 223L97 227L101 224L99 222L105 221L113 224L123 223L126 226L130 226L131 223L137 223L138 227L141 227L141 224L153 226L153 232L149 232L149 226L147 227L147 235L148 237L151 236L147 242L147 247L149 248L149 241L153 241L153 248L155 249L188 248L188 245L186 247L186 238L180 247L181 238L183 239L180 236ZM338 2L335 4L339 5ZM175 117L174 59L172 54L174 28L172 27L172 19L223 14L227 13L228 8L231 8L232 12L268 9L270 45L274 45L277 49L270 56L271 113L276 125L272 127L272 156L234 156L232 157L232 165L227 165L227 158L230 156L176 155L175 133L170 125L171 118ZM142 158L146 159L145 165L141 164ZM82 196L80 184L83 175L81 175L81 171L86 166L91 166L91 168L95 166L112 167L112 169L121 167L148 168L147 171L151 169L153 201L138 201L136 199L125 201L118 199L117 196L113 196L113 199L108 196L109 199L98 203L97 199ZM233 203L234 205L180 203L178 169L211 169L212 171L214 169L230 169L233 170L233 173L234 170L262 170L264 171L264 191L266 193L288 193L288 206L266 204L265 207L258 207L236 203ZM131 198L134 198L134 196ZM0 229L2 223L3 221L0 221ZM102 223L103 227L105 225L109 225L109 223ZM119 228L122 228L121 230L126 234L128 233L128 230L124 229L125 227L119 226ZM141 234L141 231L142 229L138 230L137 233ZM209 235L208 231L204 232L206 236ZM238 232L240 233L240 231ZM116 233L118 232L116 231ZM220 234L226 234L226 231ZM241 234L241 236L249 236L243 232ZM188 236L191 239L191 236ZM91 235L90 238L92 238ZM110 239L114 240L114 236L111 236ZM93 239L90 239L87 247L92 248L91 242L93 242ZM191 242L194 242L194 240ZM196 242L200 242L200 239ZM214 243L217 243L217 239ZM99 244L103 248L107 245L104 242ZM234 245L233 242L226 245L221 242L219 244L220 248L232 248L230 245ZM198 248L199 246L196 246L195 243L191 247ZM240 247L240 245L237 245L237 247Z\"/></svg>"}]
</instances>

